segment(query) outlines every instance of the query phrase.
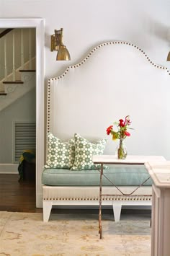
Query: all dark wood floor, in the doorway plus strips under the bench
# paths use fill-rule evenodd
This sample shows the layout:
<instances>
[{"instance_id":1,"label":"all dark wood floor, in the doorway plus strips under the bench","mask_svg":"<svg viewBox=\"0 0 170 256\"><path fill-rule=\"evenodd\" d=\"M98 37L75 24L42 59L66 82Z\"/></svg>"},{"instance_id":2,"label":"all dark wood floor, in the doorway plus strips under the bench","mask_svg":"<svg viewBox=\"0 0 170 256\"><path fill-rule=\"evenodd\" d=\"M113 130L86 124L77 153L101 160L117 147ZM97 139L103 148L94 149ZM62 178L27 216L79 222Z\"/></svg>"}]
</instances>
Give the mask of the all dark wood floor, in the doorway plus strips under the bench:
<instances>
[{"instance_id":1,"label":"all dark wood floor, in the doorway plus strips under the bench","mask_svg":"<svg viewBox=\"0 0 170 256\"><path fill-rule=\"evenodd\" d=\"M35 182L19 182L19 175L2 175L0 174L0 211L26 212L26 213L42 213L42 208L36 208ZM90 209L86 206L79 208L53 208L52 213L96 213L98 208ZM112 208L103 209L102 213L112 216ZM124 216L151 216L151 210L130 210L122 209L121 218Z\"/></svg>"}]
</instances>

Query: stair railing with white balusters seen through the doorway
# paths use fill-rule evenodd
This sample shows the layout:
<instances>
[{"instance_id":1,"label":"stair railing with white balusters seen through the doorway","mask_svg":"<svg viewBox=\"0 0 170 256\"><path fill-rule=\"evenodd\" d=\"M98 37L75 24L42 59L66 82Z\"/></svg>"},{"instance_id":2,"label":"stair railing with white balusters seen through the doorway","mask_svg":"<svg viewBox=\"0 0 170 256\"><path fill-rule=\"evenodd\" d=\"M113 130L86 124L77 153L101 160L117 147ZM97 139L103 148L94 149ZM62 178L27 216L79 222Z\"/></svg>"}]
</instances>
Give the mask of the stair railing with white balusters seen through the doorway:
<instances>
[{"instance_id":1,"label":"stair railing with white balusters seen through the doorway","mask_svg":"<svg viewBox=\"0 0 170 256\"><path fill-rule=\"evenodd\" d=\"M12 84L13 81L14 84L22 83L19 71L34 71L32 70L32 61L35 61L35 49L32 48L32 40L34 40L32 31L32 28L17 30L10 28L0 32L1 49L4 48L4 53L1 50L0 60L0 92L5 91L3 84ZM10 52L12 53L11 57L9 57Z\"/></svg>"}]
</instances>

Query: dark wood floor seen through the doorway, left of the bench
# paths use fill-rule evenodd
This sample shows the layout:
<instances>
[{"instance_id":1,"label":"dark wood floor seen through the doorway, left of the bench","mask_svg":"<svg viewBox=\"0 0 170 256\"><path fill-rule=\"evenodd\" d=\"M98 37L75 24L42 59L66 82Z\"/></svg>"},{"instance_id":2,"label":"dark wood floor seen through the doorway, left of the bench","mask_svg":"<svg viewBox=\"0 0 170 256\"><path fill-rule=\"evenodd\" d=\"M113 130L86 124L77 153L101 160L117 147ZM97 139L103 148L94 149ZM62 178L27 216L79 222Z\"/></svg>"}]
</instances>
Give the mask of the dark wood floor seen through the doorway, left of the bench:
<instances>
[{"instance_id":1,"label":"dark wood floor seen through the doorway, left of the bench","mask_svg":"<svg viewBox=\"0 0 170 256\"><path fill-rule=\"evenodd\" d=\"M35 182L18 182L19 175L0 175L0 211L41 212L36 208Z\"/></svg>"}]
</instances>

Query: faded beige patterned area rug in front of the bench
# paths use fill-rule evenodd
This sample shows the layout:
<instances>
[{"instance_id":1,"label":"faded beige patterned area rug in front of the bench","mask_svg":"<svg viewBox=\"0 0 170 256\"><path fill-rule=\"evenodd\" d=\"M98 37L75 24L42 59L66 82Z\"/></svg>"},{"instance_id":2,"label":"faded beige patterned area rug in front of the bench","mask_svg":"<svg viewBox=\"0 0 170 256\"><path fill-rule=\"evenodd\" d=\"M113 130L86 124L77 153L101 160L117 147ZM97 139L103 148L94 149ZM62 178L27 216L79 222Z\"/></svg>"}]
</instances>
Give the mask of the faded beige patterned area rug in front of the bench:
<instances>
[{"instance_id":1,"label":"faded beige patterned area rug in front of the bench","mask_svg":"<svg viewBox=\"0 0 170 256\"><path fill-rule=\"evenodd\" d=\"M58 218L42 213L0 212L0 255L4 256L147 256L151 255L150 221Z\"/></svg>"}]
</instances>

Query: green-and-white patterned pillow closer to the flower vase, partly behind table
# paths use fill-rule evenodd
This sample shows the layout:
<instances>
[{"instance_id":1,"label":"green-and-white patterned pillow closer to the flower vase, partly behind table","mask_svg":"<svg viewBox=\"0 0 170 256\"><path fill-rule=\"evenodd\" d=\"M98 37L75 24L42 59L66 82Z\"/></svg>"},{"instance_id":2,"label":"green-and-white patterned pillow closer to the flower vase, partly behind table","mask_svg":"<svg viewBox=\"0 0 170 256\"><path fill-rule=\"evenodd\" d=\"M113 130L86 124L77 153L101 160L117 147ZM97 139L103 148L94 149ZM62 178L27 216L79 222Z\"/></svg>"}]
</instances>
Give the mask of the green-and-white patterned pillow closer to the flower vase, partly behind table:
<instances>
[{"instance_id":1,"label":"green-and-white patterned pillow closer to the flower vase, partly behind table","mask_svg":"<svg viewBox=\"0 0 170 256\"><path fill-rule=\"evenodd\" d=\"M75 138L75 160L71 169L99 169L99 164L94 164L92 157L94 154L103 154L106 146L106 139L91 143L79 134Z\"/></svg>"}]
</instances>

